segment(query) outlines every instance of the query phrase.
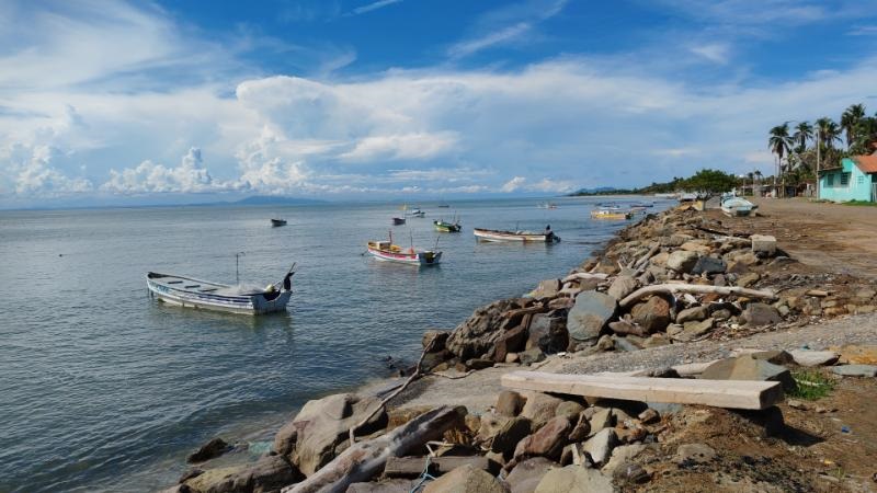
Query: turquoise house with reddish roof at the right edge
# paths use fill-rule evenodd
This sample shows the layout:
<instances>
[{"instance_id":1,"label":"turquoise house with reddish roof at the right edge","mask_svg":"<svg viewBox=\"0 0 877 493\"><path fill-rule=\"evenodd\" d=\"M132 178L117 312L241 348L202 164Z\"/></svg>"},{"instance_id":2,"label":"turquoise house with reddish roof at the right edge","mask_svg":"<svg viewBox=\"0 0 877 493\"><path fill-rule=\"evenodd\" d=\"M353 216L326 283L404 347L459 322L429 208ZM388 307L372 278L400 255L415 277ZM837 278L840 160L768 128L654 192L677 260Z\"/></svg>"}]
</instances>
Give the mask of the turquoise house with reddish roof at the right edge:
<instances>
[{"instance_id":1,"label":"turquoise house with reddish roof at the right edge","mask_svg":"<svg viewBox=\"0 0 877 493\"><path fill-rule=\"evenodd\" d=\"M819 172L819 197L825 200L877 202L877 153L843 158Z\"/></svg>"}]
</instances>

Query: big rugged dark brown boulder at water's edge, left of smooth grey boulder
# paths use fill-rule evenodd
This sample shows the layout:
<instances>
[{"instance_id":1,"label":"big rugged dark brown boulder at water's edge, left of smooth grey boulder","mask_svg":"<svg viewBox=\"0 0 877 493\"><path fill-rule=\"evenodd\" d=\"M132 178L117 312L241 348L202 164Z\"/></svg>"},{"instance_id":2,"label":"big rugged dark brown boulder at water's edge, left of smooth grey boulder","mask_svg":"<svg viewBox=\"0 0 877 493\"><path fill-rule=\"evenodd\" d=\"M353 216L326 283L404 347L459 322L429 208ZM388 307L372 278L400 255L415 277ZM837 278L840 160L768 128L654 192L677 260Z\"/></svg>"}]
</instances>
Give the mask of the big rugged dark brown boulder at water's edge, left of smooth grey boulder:
<instances>
[{"instance_id":1,"label":"big rugged dark brown boulder at water's edge, left of smooth grey boulder","mask_svg":"<svg viewBox=\"0 0 877 493\"><path fill-rule=\"evenodd\" d=\"M463 362L487 354L502 335L503 316L515 308L516 300L504 299L476 309L454 329L445 347Z\"/></svg>"}]
</instances>

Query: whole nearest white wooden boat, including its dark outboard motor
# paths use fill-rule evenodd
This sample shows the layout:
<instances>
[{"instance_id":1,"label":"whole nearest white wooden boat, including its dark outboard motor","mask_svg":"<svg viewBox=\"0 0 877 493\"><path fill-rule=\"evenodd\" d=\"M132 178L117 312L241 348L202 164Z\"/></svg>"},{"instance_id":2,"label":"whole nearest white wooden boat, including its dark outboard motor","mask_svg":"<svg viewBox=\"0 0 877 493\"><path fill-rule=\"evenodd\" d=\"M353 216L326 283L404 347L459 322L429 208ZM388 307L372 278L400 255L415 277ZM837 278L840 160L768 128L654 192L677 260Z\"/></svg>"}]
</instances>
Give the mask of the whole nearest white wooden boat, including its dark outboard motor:
<instances>
[{"instance_id":1,"label":"whole nearest white wooden boat, including its dark outboard motor","mask_svg":"<svg viewBox=\"0 0 877 493\"><path fill-rule=\"evenodd\" d=\"M146 286L152 296L169 305L229 313L262 314L286 309L293 295L293 268L289 268L283 282L269 285L264 289L253 289L150 272L146 275Z\"/></svg>"}]
</instances>

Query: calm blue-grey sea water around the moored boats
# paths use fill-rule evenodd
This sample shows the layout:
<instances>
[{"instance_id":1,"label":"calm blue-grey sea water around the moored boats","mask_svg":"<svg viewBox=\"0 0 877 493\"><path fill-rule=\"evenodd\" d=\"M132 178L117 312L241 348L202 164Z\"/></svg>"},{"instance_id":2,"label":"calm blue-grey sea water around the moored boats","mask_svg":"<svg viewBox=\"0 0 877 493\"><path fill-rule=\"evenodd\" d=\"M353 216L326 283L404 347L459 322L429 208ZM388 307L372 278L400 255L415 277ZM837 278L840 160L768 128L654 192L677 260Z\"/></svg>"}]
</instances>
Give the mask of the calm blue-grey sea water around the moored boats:
<instances>
[{"instance_id":1,"label":"calm blue-grey sea water around the moored boats","mask_svg":"<svg viewBox=\"0 0 877 493\"><path fill-rule=\"evenodd\" d=\"M425 219L392 228L398 204L0 211L0 491L152 491L213 436L267 440L308 399L386 375L384 356L413 360L424 330L580 263L622 226L589 218L599 202L422 204ZM454 214L462 234L432 230ZM288 226L271 228L275 215ZM546 223L561 243L471 233ZM389 229L403 245L437 238L443 264L363 256ZM235 252L242 282L298 263L288 313L148 297L150 270L234 283Z\"/></svg>"}]
</instances>

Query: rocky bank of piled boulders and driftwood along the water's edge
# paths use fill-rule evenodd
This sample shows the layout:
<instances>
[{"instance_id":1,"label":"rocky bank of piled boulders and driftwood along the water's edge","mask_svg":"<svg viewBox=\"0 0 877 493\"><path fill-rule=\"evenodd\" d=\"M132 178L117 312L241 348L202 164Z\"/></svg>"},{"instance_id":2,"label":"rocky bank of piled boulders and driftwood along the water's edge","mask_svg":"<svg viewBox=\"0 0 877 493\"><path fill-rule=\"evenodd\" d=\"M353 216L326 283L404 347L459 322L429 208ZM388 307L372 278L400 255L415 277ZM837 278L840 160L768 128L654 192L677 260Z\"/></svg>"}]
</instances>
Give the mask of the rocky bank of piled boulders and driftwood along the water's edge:
<instances>
[{"instance_id":1,"label":"rocky bank of piled boulders and driftwood along the water's edge","mask_svg":"<svg viewBox=\"0 0 877 493\"><path fill-rule=\"evenodd\" d=\"M686 478L703 481L706 471L717 489L764 483L759 488L765 491L818 490L813 471L778 456L754 465L758 474L727 471L715 438L742 437L759 447L783 442L788 429L776 406L739 412L513 390L485 395L487 408L442 405L447 402L441 395L423 405L412 398L423 401L430 380L463 389L490 371L590 372L582 368L602 354L745 340L847 314L868 317L876 305L868 282L796 262L774 238L730 228L709 211L649 215L567 276L481 307L453 331L425 333L411 388L309 401L259 461L198 466L167 491L659 491L682 488ZM832 378L877 371L872 347L785 348L625 375L775 380L794 392L799 378L790 369L821 368L813 371ZM227 449L212 442L193 461Z\"/></svg>"}]
</instances>

